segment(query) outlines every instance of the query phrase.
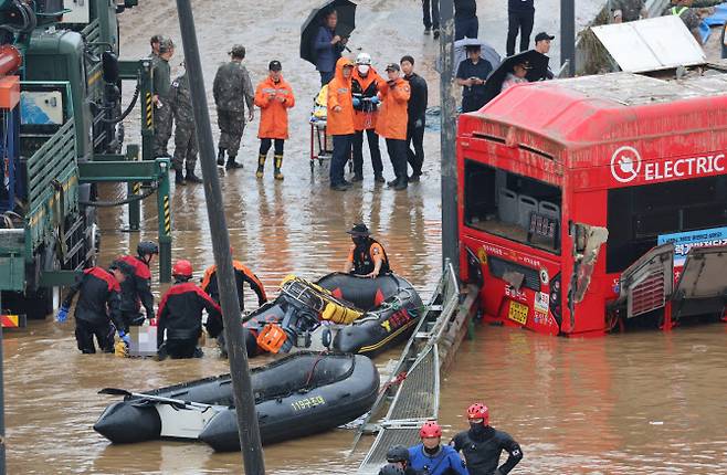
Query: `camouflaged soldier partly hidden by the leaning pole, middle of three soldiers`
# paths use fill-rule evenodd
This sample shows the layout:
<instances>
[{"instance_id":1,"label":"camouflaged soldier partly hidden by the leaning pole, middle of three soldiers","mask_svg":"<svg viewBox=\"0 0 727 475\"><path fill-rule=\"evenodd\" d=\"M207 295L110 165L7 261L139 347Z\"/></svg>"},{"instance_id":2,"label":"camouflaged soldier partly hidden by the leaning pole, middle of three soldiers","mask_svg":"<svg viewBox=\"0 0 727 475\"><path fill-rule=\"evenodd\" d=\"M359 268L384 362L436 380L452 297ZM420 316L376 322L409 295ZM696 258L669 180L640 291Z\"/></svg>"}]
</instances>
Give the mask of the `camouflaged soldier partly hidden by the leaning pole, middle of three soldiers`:
<instances>
[{"instance_id":1,"label":"camouflaged soldier partly hidden by the leaning pole, middle of three soldiers","mask_svg":"<svg viewBox=\"0 0 727 475\"><path fill-rule=\"evenodd\" d=\"M175 182L177 184L201 183L202 180L194 175L198 151L197 130L192 112L192 93L189 89L187 73L171 83L169 106L177 125L175 128L175 158L171 161L175 169ZM182 167L187 169L187 176L183 175Z\"/></svg>"}]
</instances>

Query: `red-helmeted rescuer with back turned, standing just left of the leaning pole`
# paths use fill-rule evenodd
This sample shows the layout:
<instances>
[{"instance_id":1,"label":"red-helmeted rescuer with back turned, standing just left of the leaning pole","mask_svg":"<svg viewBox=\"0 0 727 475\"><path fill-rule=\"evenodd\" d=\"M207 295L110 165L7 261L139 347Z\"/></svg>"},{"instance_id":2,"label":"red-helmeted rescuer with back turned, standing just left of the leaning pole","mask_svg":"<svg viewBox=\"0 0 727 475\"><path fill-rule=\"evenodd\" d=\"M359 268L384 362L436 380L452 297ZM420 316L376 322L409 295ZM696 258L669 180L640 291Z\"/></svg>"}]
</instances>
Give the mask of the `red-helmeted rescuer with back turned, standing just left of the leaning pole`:
<instances>
[{"instance_id":1,"label":"red-helmeted rescuer with back turned, standing just left of the leaning pole","mask_svg":"<svg viewBox=\"0 0 727 475\"><path fill-rule=\"evenodd\" d=\"M222 330L220 306L192 282L192 264L177 261L171 268L175 285L161 297L157 319L157 348L159 358L201 358L197 347L202 335L202 310L207 309L207 332L212 337ZM167 332L165 340L165 330Z\"/></svg>"}]
</instances>

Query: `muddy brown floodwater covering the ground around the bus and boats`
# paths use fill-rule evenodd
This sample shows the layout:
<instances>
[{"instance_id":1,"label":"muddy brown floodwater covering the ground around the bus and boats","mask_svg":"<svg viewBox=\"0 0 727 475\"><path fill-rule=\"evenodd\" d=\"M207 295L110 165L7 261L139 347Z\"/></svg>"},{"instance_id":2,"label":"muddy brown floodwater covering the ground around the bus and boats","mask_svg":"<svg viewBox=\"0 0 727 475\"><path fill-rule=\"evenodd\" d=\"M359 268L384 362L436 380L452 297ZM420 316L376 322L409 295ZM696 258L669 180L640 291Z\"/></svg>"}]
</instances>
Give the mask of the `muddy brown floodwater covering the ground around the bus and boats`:
<instances>
[{"instance_id":1,"label":"muddy brown floodwater covering the ground around the bus and boats","mask_svg":"<svg viewBox=\"0 0 727 475\"><path fill-rule=\"evenodd\" d=\"M123 15L124 59L146 55L152 33L179 39L172 1L141 3ZM428 131L424 179L404 192L376 187L369 168L364 183L346 193L331 193L326 171L317 166L310 173L306 120L318 75L297 60L296 38L315 3L193 2L208 88L230 44L239 42L247 46L253 81L264 76L271 59L278 59L298 98L286 144L285 181L275 182L270 173L264 180L254 178L256 122L245 131L245 169L221 178L225 204L220 211L228 218L236 257L271 289L288 273L315 278L340 266L349 245L345 231L364 220L387 244L393 268L428 298L441 258L439 135ZM431 38L421 35L418 7L415 0L361 1L351 46L355 52L364 48L379 68L412 54L430 82L430 105L438 105L436 49ZM499 43L504 8L481 2L481 17L486 11L493 17L482 19L484 38ZM547 18L539 24L554 23L555 13L542 11ZM172 64L180 61L177 56ZM138 138L133 130L137 124L138 115L127 122L131 141ZM391 177L390 165L386 167ZM104 198L120 193L116 187L103 190ZM172 203L173 257L190 258L199 276L212 263L202 188L173 190ZM119 231L127 222L125 211L103 211L102 263L134 249L139 239L156 238L152 202L144 204L143 219L145 231L129 235ZM161 289L155 283L155 291ZM377 365L386 371L397 352L379 357ZM49 319L10 332L4 355L11 474L241 472L239 454L175 442L112 446L91 429L112 402L96 394L99 388L145 390L225 372L226 361L212 347L202 359L161 363L82 356L73 324ZM726 360L727 327L721 325L591 340L480 327L444 380L441 422L450 436L463 425L464 409L485 401L494 425L523 444L525 460L516 473L727 473ZM364 452L346 458L351 441L351 432L339 430L265 447L268 473L352 473Z\"/></svg>"}]
</instances>

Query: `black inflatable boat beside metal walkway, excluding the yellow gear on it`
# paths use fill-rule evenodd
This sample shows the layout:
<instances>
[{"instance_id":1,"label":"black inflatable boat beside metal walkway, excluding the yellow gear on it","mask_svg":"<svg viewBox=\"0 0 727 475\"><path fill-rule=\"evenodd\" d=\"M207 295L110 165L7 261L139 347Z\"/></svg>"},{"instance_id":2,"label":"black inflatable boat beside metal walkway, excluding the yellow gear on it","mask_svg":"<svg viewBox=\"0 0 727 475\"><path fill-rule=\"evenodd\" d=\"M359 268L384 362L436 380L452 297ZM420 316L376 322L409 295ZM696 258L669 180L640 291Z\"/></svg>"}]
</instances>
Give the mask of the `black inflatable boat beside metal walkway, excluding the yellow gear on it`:
<instances>
[{"instance_id":1,"label":"black inflatable boat beside metal walkway, excluding the yellow gear on it","mask_svg":"<svg viewBox=\"0 0 727 475\"><path fill-rule=\"evenodd\" d=\"M414 287L396 274L364 278L333 273L316 285L329 291L330 296L337 300L360 309L362 314L352 324L336 326L334 331L319 331L323 345L336 351L377 355L405 340L424 310ZM286 318L287 315L294 318ZM266 327L284 328L284 338L288 340L284 351L289 351L292 346L308 347L312 344L310 332L320 324L322 318L315 308L308 308L289 293L281 292L275 300L263 305L245 320L247 355L254 357L267 352L267 348L260 342L260 336Z\"/></svg>"}]
</instances>

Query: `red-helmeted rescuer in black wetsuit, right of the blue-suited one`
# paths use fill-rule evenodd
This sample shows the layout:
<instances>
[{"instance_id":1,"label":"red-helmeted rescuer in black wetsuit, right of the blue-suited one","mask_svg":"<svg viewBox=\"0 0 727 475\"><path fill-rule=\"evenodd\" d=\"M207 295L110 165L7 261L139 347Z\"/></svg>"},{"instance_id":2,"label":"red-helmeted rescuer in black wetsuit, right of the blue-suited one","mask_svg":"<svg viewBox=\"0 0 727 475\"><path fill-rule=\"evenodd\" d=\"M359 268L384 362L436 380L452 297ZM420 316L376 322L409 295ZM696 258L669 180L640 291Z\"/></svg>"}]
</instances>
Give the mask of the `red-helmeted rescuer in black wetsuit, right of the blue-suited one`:
<instances>
[{"instance_id":1,"label":"red-helmeted rescuer in black wetsuit, right of the blue-suited one","mask_svg":"<svg viewBox=\"0 0 727 475\"><path fill-rule=\"evenodd\" d=\"M467 409L470 430L454 436L451 445L462 452L470 475L506 475L523 460L523 451L506 432L489 426L489 410L482 403ZM499 455L505 451L507 461L499 464Z\"/></svg>"}]
</instances>

